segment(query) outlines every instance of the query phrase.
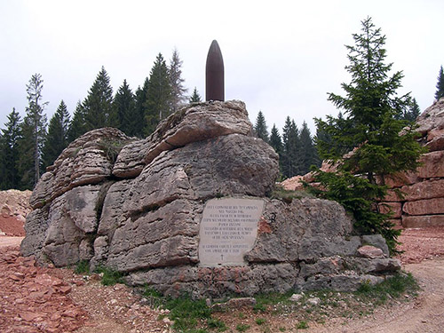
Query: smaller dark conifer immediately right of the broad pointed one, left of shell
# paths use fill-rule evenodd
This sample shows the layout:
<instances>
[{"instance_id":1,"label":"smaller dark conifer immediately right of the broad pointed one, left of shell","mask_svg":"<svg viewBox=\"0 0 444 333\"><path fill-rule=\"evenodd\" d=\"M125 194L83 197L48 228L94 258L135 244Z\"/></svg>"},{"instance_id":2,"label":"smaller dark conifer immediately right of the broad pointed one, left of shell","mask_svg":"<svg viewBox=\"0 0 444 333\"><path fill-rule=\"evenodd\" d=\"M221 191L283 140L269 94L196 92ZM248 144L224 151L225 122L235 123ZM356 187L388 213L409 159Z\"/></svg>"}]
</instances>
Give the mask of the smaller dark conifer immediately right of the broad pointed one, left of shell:
<instances>
[{"instance_id":1,"label":"smaller dark conifer immediately right of the broad pointed one, left of shell","mask_svg":"<svg viewBox=\"0 0 444 333\"><path fill-rule=\"evenodd\" d=\"M115 92L114 107L116 115L115 127L129 136L136 135L139 123L143 119L140 119L139 114L136 112L134 94L126 80L123 80L122 86Z\"/></svg>"}]
</instances>

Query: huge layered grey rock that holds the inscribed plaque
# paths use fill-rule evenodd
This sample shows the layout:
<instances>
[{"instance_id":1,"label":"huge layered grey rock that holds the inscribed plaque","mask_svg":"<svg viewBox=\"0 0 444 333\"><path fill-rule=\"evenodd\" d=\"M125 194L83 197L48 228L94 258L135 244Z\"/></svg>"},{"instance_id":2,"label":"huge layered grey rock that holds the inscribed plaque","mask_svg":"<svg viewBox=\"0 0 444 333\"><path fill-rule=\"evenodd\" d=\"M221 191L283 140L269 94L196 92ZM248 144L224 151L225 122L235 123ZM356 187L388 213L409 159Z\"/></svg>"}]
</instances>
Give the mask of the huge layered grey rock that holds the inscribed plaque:
<instances>
[{"instance_id":1,"label":"huge layered grey rock that holds the inscribed plaque","mask_svg":"<svg viewBox=\"0 0 444 333\"><path fill-rule=\"evenodd\" d=\"M36 186L22 253L55 266L88 260L131 284L194 297L356 289L400 268L381 236L353 235L336 202L270 199L278 157L251 128L242 102L215 101L185 107L147 139L86 133ZM243 265L200 263L202 214L215 198L264 203ZM369 258L365 244L383 255Z\"/></svg>"}]
</instances>

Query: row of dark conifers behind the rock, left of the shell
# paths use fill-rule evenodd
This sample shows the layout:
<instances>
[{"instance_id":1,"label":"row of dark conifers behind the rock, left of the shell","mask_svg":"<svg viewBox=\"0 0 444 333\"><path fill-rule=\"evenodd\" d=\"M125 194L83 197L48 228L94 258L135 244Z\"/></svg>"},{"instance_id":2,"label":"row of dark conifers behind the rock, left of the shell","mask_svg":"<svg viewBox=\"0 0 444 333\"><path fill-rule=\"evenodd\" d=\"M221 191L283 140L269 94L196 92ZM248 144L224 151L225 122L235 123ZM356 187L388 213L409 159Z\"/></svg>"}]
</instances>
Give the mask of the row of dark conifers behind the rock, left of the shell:
<instances>
[{"instance_id":1,"label":"row of dark conifers behind the rock, left of the shell","mask_svg":"<svg viewBox=\"0 0 444 333\"><path fill-rule=\"evenodd\" d=\"M182 60L174 50L167 65L162 53L143 85L133 92L126 80L113 93L109 75L101 67L83 101L71 118L63 100L50 122L44 114L42 75L32 75L27 84L25 116L12 109L0 131L0 189L32 189L45 168L63 149L87 131L115 127L131 137L144 138L168 115L189 102L200 102L196 88L186 96Z\"/></svg>"}]
</instances>

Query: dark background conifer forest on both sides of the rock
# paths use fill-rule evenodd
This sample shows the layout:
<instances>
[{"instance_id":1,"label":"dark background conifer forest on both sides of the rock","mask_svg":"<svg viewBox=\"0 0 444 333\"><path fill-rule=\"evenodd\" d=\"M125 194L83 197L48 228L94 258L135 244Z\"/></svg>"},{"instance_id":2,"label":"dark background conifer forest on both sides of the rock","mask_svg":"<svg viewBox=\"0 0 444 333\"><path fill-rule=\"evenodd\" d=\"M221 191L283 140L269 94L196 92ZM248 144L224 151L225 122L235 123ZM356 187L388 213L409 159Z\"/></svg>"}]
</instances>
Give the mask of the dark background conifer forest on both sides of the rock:
<instances>
[{"instance_id":1,"label":"dark background conifer forest on both sides of the rock","mask_svg":"<svg viewBox=\"0 0 444 333\"><path fill-rule=\"evenodd\" d=\"M104 67L101 68L88 95L79 101L74 115L70 116L67 105L60 101L48 124L44 109L48 102L43 99L44 80L42 75L31 76L27 84L28 107L26 115L12 109L4 129L0 131L0 189L32 189L45 168L55 161L67 145L86 131L112 126L132 137L144 138L151 134L157 124L174 113L186 102L200 102L196 88L186 97L185 80L182 78L182 60L174 50L167 65L162 53L142 86L133 92L126 80L113 93L110 79ZM442 66L436 85L435 99L444 97L444 73ZM402 108L394 115L398 120L414 121L420 109L415 99L408 108ZM347 133L349 126L344 115L328 117L326 121ZM341 127L342 126L342 127ZM300 129L289 116L286 118L282 135L275 124L268 133L262 111L254 124L258 138L268 142L280 157L281 178L304 175L312 165L320 166L321 145L336 141L325 126L317 123L316 134L312 136L304 122ZM339 149L339 148L338 148ZM342 144L338 154L345 154L353 145Z\"/></svg>"}]
</instances>

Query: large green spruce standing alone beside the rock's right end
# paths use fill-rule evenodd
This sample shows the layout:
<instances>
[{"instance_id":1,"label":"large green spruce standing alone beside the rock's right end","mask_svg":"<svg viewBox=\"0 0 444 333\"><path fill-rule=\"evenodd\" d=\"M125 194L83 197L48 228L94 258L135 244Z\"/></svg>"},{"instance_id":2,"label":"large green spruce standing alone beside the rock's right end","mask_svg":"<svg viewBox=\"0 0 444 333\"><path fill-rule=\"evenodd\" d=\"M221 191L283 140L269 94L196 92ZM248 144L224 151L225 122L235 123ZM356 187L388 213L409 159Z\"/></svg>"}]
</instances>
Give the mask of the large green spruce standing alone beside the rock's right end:
<instances>
[{"instance_id":1,"label":"large green spruce standing alone beside the rock's right end","mask_svg":"<svg viewBox=\"0 0 444 333\"><path fill-rule=\"evenodd\" d=\"M411 105L409 94L396 93L403 75L389 76L392 64L385 64L385 36L370 18L361 23L361 34L353 34L355 44L346 46L350 65L345 68L352 79L342 83L345 97L329 93L329 100L344 110L345 117L316 119L318 128L331 138L330 142L318 140L321 157L337 162L337 172L317 171L316 180L326 191L316 191L351 211L362 233L383 234L393 250L399 232L373 208L385 197L385 177L416 170L424 150L411 129L399 135L406 122L395 118ZM353 152L342 154L344 147L353 147Z\"/></svg>"}]
</instances>

